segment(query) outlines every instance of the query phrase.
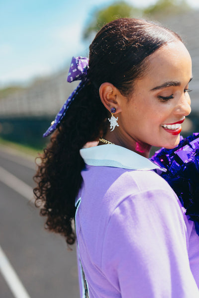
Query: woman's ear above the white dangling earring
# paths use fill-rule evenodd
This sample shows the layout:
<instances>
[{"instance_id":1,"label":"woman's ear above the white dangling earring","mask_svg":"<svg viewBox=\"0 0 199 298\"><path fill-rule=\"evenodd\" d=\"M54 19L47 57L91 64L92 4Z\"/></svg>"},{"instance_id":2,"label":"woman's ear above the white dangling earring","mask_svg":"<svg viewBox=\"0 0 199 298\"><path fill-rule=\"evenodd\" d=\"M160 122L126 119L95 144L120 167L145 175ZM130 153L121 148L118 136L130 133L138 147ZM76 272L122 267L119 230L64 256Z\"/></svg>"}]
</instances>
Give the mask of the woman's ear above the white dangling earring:
<instances>
[{"instance_id":1,"label":"woman's ear above the white dangling earring","mask_svg":"<svg viewBox=\"0 0 199 298\"><path fill-rule=\"evenodd\" d=\"M102 83L99 92L101 102L109 112L112 107L116 109L115 114L121 112L120 102L122 95L113 84L108 82Z\"/></svg>"}]
</instances>

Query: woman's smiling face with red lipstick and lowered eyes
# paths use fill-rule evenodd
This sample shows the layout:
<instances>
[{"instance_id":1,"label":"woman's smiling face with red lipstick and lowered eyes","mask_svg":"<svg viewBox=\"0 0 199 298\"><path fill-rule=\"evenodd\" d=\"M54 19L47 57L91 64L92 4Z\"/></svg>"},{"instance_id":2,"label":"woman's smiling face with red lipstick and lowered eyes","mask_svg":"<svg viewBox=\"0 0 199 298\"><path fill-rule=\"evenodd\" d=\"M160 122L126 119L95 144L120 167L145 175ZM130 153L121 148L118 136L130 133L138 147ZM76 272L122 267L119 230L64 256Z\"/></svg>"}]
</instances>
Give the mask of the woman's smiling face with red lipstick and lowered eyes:
<instances>
[{"instance_id":1,"label":"woman's smiling face with red lipstick and lowered eyes","mask_svg":"<svg viewBox=\"0 0 199 298\"><path fill-rule=\"evenodd\" d=\"M181 124L191 112L191 78L192 61L182 42L169 43L149 56L146 74L135 81L130 100L120 101L117 139L122 145L131 144L125 147L143 155L151 146L176 147Z\"/></svg>"}]
</instances>

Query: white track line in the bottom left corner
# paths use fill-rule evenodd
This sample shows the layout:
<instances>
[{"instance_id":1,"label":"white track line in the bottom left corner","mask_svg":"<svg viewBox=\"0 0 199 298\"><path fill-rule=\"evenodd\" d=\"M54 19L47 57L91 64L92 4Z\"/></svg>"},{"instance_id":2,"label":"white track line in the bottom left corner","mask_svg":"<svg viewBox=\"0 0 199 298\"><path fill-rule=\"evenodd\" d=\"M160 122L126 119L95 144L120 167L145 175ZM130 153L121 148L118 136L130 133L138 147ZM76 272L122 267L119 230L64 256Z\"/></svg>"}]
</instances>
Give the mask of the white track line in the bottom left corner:
<instances>
[{"instance_id":1,"label":"white track line in the bottom left corner","mask_svg":"<svg viewBox=\"0 0 199 298\"><path fill-rule=\"evenodd\" d=\"M30 298L1 247L0 271L15 298Z\"/></svg>"}]
</instances>

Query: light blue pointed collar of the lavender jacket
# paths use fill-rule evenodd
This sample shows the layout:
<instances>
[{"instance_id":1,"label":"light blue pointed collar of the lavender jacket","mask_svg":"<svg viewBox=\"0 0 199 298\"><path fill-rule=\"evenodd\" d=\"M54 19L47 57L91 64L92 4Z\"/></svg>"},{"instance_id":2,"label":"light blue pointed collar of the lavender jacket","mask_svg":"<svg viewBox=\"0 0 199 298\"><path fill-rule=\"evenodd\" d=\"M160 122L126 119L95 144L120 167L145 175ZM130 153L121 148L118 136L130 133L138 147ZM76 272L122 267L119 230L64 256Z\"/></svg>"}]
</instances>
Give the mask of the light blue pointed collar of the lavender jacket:
<instances>
[{"instance_id":1,"label":"light blue pointed collar of the lavender jacket","mask_svg":"<svg viewBox=\"0 0 199 298\"><path fill-rule=\"evenodd\" d=\"M131 170L166 169L150 159L117 145L101 145L80 150L80 154L88 165L111 166Z\"/></svg>"}]
</instances>

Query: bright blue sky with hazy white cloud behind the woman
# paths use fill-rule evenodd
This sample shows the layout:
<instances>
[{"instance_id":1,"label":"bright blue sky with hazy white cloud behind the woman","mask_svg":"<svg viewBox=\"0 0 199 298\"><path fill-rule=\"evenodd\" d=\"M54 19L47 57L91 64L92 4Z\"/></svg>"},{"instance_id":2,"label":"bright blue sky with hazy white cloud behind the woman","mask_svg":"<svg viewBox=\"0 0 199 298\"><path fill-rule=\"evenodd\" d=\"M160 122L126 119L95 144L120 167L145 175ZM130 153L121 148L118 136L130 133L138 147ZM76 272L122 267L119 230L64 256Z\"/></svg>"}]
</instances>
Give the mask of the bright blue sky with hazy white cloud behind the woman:
<instances>
[{"instance_id":1,"label":"bright blue sky with hazy white cloud behind the woman","mask_svg":"<svg viewBox=\"0 0 199 298\"><path fill-rule=\"evenodd\" d=\"M0 0L0 88L30 83L88 56L82 32L96 8L114 0ZM126 0L147 6L156 0ZM199 0L188 0L199 8Z\"/></svg>"}]
</instances>

